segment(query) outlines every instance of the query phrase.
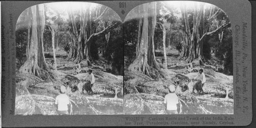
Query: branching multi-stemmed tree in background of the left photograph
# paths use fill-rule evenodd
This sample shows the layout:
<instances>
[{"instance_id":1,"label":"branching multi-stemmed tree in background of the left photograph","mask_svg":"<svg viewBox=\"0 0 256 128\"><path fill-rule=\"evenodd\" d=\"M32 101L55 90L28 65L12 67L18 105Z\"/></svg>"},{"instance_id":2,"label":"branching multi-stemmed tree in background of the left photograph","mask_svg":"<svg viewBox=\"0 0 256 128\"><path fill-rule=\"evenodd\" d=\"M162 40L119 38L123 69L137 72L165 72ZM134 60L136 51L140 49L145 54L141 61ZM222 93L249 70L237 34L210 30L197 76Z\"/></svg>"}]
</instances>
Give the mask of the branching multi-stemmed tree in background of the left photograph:
<instances>
[{"instance_id":1,"label":"branching multi-stemmed tree in background of the left photograph","mask_svg":"<svg viewBox=\"0 0 256 128\"><path fill-rule=\"evenodd\" d=\"M74 41L75 41L74 47L73 47L73 52L72 52L72 58L75 63L80 63L84 59L89 61L91 59L90 46L91 46L91 43L93 42L92 40L94 40L94 38L97 36L102 36L102 35L109 33L110 30L116 28L119 25L119 23L113 23L113 24L110 24L109 26L107 26L104 30L102 30L98 33L93 33L93 32L95 32L100 19L102 19L103 16L105 16L105 14L109 10L110 10L110 8L106 8L101 13L101 15L96 17L96 19L94 20L95 25L93 27L91 27L91 29L92 29L92 30L90 30L91 32L86 32L86 31L89 31L89 29L87 29L87 25L90 24L87 21L88 21L88 19L89 19L89 22L91 21L90 16L88 16L88 15L90 15L90 12L89 12L90 8L87 8L86 11L81 10L80 11L81 31L80 31L79 35L77 33L77 29L76 29L76 25L75 25L74 13L73 13L73 10L71 10L69 17L71 18L71 21L72 21L72 26L73 26L72 28L73 28ZM93 33L93 34L87 35L86 33Z\"/></svg>"}]
</instances>

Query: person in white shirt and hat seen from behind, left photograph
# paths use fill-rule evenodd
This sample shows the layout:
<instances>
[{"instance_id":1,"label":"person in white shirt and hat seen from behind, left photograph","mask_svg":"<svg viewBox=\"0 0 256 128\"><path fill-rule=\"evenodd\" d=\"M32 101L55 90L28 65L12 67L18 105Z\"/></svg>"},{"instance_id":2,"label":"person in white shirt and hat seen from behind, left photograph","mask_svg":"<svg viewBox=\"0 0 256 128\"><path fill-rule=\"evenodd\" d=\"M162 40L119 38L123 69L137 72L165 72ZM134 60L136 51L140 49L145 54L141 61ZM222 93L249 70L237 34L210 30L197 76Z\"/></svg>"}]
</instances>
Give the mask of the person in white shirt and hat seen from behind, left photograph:
<instances>
[{"instance_id":1,"label":"person in white shirt and hat seen from behind, left photograph","mask_svg":"<svg viewBox=\"0 0 256 128\"><path fill-rule=\"evenodd\" d=\"M58 105L58 113L60 115L67 115L70 108L69 97L65 94L66 87L61 87L61 94L56 97L55 105Z\"/></svg>"}]
</instances>

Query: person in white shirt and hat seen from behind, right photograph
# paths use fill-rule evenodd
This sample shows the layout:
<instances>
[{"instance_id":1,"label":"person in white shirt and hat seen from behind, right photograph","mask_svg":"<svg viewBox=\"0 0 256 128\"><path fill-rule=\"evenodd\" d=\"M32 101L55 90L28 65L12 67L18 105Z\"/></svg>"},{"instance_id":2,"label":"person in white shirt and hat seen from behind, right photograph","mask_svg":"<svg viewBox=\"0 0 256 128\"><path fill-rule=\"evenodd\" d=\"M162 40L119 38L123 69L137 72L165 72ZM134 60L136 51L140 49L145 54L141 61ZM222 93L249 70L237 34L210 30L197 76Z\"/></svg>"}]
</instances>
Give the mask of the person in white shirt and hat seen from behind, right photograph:
<instances>
[{"instance_id":1,"label":"person in white shirt and hat seen from behind, right photograph","mask_svg":"<svg viewBox=\"0 0 256 128\"><path fill-rule=\"evenodd\" d=\"M179 103L178 96L175 94L175 87L169 86L169 93L164 97L167 114L178 114L177 104Z\"/></svg>"}]
</instances>

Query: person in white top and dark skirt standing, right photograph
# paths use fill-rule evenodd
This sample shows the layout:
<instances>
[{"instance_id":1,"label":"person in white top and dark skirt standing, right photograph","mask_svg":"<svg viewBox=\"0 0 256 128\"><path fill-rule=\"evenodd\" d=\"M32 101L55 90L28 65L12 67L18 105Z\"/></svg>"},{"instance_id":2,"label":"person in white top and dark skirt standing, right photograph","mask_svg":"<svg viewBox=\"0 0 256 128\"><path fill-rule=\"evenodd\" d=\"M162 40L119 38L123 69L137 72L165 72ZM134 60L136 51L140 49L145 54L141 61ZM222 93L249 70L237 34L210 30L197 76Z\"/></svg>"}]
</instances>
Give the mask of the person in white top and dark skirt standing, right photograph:
<instances>
[{"instance_id":1,"label":"person in white top and dark skirt standing, right photograph","mask_svg":"<svg viewBox=\"0 0 256 128\"><path fill-rule=\"evenodd\" d=\"M203 69L200 69L199 70L199 73L198 75L196 75L193 79L196 79L196 77L200 77L200 80L197 81L195 83L195 86L193 88L193 92L194 92L194 89L198 92L198 94L205 94L204 91L203 91L203 87L204 87L204 84L206 82L206 78L205 78L205 73L204 73L204 70Z\"/></svg>"}]
</instances>

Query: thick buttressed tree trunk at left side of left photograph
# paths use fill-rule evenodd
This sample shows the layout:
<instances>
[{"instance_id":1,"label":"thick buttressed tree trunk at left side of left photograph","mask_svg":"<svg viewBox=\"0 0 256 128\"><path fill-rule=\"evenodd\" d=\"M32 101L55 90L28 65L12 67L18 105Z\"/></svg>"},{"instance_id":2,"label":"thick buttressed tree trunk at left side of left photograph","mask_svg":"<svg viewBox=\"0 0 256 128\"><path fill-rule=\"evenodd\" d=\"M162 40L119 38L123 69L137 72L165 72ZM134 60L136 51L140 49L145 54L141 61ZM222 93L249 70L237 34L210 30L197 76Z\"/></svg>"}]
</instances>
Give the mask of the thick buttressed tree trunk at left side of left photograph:
<instances>
[{"instance_id":1,"label":"thick buttressed tree trunk at left side of left photograph","mask_svg":"<svg viewBox=\"0 0 256 128\"><path fill-rule=\"evenodd\" d=\"M32 17L32 34L29 44L29 54L26 62L20 67L21 73L38 76L41 79L51 79L48 73L49 66L44 58L43 31L44 31L44 7L37 5L30 8Z\"/></svg>"}]
</instances>

